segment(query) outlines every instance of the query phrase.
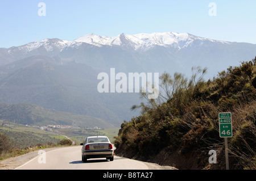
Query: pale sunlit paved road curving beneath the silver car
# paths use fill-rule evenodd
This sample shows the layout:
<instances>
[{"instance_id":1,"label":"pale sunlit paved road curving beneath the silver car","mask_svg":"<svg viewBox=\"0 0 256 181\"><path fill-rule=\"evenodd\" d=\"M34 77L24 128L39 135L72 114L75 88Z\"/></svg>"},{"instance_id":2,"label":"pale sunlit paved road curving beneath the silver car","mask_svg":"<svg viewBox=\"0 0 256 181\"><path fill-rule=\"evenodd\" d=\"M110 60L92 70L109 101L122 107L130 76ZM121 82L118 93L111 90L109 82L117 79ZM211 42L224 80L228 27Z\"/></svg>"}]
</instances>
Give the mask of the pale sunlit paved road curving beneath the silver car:
<instances>
[{"instance_id":1,"label":"pale sunlit paved road curving beneath the silver car","mask_svg":"<svg viewBox=\"0 0 256 181\"><path fill-rule=\"evenodd\" d=\"M114 161L105 158L81 161L82 146L71 146L38 154L17 170L172 170L169 166L159 166L155 163L141 162L134 159L114 156Z\"/></svg>"}]
</instances>

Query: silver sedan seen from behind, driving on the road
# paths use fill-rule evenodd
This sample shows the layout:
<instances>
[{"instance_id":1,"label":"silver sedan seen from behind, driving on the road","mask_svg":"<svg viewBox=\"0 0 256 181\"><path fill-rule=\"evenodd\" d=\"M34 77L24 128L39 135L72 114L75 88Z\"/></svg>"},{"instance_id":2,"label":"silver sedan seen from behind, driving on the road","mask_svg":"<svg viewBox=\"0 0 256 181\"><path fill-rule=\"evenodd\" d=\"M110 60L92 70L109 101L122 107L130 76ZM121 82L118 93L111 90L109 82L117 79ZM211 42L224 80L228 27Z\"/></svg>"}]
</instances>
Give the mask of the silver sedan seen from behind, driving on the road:
<instances>
[{"instance_id":1,"label":"silver sedan seen from behind, driving on the road","mask_svg":"<svg viewBox=\"0 0 256 181\"><path fill-rule=\"evenodd\" d=\"M82 145L82 161L87 162L89 158L106 158L114 160L113 145L106 136L89 136Z\"/></svg>"}]
</instances>

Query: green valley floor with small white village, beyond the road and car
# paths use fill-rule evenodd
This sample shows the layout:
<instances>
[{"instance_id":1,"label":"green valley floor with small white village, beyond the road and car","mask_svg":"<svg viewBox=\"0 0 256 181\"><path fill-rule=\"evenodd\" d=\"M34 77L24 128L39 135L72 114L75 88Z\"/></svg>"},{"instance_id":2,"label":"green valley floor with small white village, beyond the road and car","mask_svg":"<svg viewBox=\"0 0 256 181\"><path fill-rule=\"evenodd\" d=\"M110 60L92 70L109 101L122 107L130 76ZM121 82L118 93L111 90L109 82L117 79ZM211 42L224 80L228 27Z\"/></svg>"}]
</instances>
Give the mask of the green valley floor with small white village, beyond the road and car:
<instances>
[{"instance_id":1,"label":"green valley floor with small white village, beyond the road and car","mask_svg":"<svg viewBox=\"0 0 256 181\"><path fill-rule=\"evenodd\" d=\"M47 128L47 125L45 126ZM63 139L71 138L76 145L84 142L87 136L106 135L110 141L117 136L119 128L93 129L93 128L51 128L39 129L35 126L14 124L0 120L0 132L9 137L13 149L24 149L35 145L56 146Z\"/></svg>"}]
</instances>

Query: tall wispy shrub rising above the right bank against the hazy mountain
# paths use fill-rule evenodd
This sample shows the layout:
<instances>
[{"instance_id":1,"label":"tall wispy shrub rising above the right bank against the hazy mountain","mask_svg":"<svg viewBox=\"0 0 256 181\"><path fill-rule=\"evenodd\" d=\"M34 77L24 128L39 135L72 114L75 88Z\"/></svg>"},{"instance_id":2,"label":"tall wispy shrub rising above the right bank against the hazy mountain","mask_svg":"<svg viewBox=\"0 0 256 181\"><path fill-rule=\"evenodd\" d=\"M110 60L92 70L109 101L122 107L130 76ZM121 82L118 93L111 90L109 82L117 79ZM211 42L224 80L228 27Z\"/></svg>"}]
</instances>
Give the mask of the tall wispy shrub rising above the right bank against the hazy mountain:
<instances>
[{"instance_id":1,"label":"tall wispy shrub rising above the right bank against the hazy mountain","mask_svg":"<svg viewBox=\"0 0 256 181\"><path fill-rule=\"evenodd\" d=\"M167 102L171 107L179 112L183 112L183 105L195 99L196 92L204 82L204 75L207 73L207 68L201 69L200 66L192 68L191 79L185 78L184 74L175 73L174 77L164 72L160 77L158 90L159 96L157 99L148 99L148 93L141 91L141 98L146 100L141 105L134 105L131 110L141 108L141 112L146 113L148 110L157 109L159 105Z\"/></svg>"}]
</instances>

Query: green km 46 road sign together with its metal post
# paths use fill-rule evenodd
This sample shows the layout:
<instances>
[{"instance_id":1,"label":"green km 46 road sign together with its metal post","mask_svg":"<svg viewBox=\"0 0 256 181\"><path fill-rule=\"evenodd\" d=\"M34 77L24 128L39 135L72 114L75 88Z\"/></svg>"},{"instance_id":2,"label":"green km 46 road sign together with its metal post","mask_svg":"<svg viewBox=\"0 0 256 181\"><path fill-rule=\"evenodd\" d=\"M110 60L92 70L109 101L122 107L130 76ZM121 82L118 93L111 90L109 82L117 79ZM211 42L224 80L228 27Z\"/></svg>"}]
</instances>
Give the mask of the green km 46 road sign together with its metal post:
<instances>
[{"instance_id":1,"label":"green km 46 road sign together with its metal post","mask_svg":"<svg viewBox=\"0 0 256 181\"><path fill-rule=\"evenodd\" d=\"M229 170L228 137L232 137L232 116L230 112L218 113L220 137L225 141L226 170Z\"/></svg>"}]
</instances>

